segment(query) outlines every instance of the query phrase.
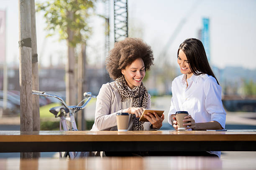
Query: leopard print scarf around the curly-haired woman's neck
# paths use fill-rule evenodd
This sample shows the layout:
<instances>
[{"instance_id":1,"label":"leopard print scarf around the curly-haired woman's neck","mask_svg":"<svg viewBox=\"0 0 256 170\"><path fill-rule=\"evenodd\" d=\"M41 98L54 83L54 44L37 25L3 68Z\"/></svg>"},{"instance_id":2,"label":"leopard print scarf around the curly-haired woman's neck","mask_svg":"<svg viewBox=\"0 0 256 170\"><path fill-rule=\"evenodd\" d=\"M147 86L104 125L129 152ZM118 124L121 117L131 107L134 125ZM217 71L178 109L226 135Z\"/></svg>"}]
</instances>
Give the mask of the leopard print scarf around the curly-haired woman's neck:
<instances>
[{"instance_id":1,"label":"leopard print scarf around the curly-haired woman's neck","mask_svg":"<svg viewBox=\"0 0 256 170\"><path fill-rule=\"evenodd\" d=\"M148 91L142 82L136 91L129 91L127 89L125 77L123 75L118 77L115 82L117 82L118 92L121 95L121 102L123 102L125 98L133 98L132 107L143 107L146 109L148 104ZM132 119L133 130L144 130L144 122L139 122L139 117L136 117L136 115L133 114Z\"/></svg>"}]
</instances>

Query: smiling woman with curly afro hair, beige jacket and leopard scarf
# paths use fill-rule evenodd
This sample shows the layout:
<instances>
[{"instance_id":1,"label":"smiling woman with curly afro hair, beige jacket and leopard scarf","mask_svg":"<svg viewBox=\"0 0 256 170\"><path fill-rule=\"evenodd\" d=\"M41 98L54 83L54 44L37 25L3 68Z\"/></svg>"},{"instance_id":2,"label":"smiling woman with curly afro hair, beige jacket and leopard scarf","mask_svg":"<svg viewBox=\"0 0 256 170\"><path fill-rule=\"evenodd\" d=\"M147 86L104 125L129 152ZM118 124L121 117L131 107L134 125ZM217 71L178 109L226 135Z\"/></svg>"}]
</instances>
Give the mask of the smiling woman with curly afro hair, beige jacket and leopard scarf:
<instances>
[{"instance_id":1,"label":"smiling woman with curly afro hair, beige jacket and leopard scarf","mask_svg":"<svg viewBox=\"0 0 256 170\"><path fill-rule=\"evenodd\" d=\"M150 109L151 96L142 80L146 70L153 65L151 47L137 38L116 42L106 59L106 69L115 80L103 84L97 96L93 131L118 130L116 113L128 112L128 130L158 130L164 115L155 112L145 117L149 122L139 122L143 110Z\"/></svg>"}]
</instances>

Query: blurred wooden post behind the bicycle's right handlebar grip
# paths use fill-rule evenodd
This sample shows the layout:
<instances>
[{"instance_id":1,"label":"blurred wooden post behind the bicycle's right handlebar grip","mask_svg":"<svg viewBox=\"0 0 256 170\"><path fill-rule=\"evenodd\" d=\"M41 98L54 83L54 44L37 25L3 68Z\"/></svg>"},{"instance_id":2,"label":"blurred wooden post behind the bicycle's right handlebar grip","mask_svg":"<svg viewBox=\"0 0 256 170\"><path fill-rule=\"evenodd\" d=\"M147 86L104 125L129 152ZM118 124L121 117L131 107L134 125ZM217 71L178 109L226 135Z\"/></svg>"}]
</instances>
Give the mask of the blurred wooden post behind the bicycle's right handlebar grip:
<instances>
[{"instance_id":1,"label":"blurred wooden post behind the bicycle's right handlebar grip","mask_svg":"<svg viewBox=\"0 0 256 170\"><path fill-rule=\"evenodd\" d=\"M84 98L85 92L85 69L86 69L86 45L81 44L81 53L77 60L77 101L80 102ZM84 120L85 110L77 112L77 123L79 130L86 130L86 121Z\"/></svg>"}]
</instances>

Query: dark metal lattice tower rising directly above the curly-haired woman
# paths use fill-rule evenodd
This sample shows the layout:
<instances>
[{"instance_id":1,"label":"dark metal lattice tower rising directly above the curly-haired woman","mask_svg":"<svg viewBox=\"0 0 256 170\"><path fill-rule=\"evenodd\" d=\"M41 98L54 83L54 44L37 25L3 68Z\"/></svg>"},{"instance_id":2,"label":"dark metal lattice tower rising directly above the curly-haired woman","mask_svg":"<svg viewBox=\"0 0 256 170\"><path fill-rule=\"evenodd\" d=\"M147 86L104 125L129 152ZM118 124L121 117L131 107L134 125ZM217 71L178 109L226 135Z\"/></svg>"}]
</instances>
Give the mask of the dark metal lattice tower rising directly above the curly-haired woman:
<instances>
[{"instance_id":1,"label":"dark metal lattice tower rising directly above the curly-haired woman","mask_svg":"<svg viewBox=\"0 0 256 170\"><path fill-rule=\"evenodd\" d=\"M115 42L128 37L128 0L114 0Z\"/></svg>"}]
</instances>

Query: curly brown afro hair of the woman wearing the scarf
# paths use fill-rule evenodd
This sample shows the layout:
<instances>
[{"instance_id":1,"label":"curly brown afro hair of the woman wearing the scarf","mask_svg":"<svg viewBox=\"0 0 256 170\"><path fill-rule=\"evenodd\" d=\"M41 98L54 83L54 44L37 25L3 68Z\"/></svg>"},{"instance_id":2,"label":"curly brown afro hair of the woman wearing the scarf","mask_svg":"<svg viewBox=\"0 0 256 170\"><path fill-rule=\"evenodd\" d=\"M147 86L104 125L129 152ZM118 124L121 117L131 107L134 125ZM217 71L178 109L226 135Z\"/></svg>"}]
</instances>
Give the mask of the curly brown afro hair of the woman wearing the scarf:
<instances>
[{"instance_id":1,"label":"curly brown afro hair of the woman wearing the scarf","mask_svg":"<svg viewBox=\"0 0 256 170\"><path fill-rule=\"evenodd\" d=\"M109 76L115 80L122 75L121 70L130 65L137 58L142 58L145 70L153 65L154 57L151 47L139 38L125 38L115 42L106 59L106 69Z\"/></svg>"}]
</instances>

